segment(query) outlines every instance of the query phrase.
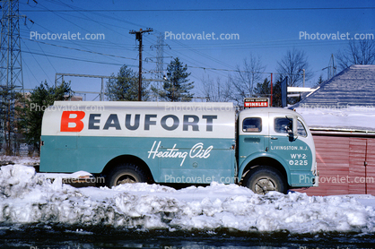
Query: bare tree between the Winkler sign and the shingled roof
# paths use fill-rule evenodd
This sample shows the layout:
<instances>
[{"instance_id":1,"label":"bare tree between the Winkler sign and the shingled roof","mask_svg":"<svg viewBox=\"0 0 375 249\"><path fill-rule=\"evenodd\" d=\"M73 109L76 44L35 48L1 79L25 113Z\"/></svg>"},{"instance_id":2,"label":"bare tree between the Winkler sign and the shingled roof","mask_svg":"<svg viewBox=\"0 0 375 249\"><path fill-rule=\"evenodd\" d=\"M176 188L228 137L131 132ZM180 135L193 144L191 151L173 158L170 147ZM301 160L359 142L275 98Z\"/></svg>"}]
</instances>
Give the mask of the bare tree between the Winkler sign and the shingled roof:
<instances>
[{"instance_id":1,"label":"bare tree between the Winkler sign and the shingled roof","mask_svg":"<svg viewBox=\"0 0 375 249\"><path fill-rule=\"evenodd\" d=\"M305 52L298 50L295 47L292 50L288 50L286 55L283 56L281 61L277 62L277 73L288 76L288 86L298 86L303 80L303 70L305 71L305 81L309 80L313 73L310 72L310 66L308 63L308 57Z\"/></svg>"}]
</instances>

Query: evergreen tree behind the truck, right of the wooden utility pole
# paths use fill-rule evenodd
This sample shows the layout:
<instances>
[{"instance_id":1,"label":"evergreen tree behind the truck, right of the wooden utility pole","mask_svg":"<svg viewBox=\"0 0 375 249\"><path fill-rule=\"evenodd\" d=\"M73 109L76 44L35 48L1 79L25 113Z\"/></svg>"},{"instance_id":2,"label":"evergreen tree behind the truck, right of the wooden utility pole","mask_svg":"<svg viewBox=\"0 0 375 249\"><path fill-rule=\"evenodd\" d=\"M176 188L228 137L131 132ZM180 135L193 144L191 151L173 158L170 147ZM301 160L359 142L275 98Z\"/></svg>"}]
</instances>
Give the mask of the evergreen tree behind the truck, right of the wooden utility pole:
<instances>
[{"instance_id":1,"label":"evergreen tree behind the truck, right of the wooden utility pole","mask_svg":"<svg viewBox=\"0 0 375 249\"><path fill-rule=\"evenodd\" d=\"M187 71L187 64L183 65L179 58L174 59L167 67L167 81L162 86L163 90L152 90L166 101L191 101L194 94L190 93L190 90L194 88L194 82L189 82L190 73Z\"/></svg>"}]
</instances>

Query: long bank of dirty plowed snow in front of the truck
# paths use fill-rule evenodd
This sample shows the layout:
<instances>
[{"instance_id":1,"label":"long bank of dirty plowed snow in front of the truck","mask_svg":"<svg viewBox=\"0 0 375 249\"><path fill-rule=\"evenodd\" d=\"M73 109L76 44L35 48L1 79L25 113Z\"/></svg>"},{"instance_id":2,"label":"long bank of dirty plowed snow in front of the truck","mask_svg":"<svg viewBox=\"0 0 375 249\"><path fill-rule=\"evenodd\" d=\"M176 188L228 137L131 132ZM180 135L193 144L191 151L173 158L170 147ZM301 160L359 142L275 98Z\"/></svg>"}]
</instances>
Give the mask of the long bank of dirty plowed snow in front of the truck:
<instances>
[{"instance_id":1,"label":"long bank of dirty plowed snow in front of the truck","mask_svg":"<svg viewBox=\"0 0 375 249\"><path fill-rule=\"evenodd\" d=\"M161 185L74 188L53 183L33 167L0 170L0 225L59 224L114 228L215 231L375 232L375 197L260 196L213 183L175 190Z\"/></svg>"}]
</instances>

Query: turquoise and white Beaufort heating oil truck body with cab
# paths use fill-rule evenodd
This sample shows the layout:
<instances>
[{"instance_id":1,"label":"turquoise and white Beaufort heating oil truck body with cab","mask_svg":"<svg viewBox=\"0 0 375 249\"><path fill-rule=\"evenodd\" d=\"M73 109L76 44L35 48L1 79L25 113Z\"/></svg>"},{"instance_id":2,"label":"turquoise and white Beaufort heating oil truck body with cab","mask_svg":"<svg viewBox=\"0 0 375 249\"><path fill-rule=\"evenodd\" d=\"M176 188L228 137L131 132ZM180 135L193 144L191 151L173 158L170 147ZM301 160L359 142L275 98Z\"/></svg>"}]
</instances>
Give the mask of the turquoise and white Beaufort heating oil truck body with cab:
<instances>
[{"instance_id":1,"label":"turquoise and white Beaufort heating oil truck body with cab","mask_svg":"<svg viewBox=\"0 0 375 249\"><path fill-rule=\"evenodd\" d=\"M289 187L318 179L309 127L281 108L237 115L232 103L57 101L44 113L41 141L41 172L99 175L108 168L111 182L119 179L111 162L129 157L156 183L233 184L261 159L283 167Z\"/></svg>"}]
</instances>

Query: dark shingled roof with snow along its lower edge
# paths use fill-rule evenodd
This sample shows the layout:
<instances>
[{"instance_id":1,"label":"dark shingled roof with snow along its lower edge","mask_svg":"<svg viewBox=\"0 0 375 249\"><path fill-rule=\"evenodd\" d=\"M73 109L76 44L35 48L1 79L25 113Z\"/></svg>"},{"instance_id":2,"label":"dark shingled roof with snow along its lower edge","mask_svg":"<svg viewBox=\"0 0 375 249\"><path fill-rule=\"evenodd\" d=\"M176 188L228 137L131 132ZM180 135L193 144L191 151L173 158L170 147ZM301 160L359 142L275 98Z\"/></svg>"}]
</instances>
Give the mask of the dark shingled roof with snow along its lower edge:
<instances>
[{"instance_id":1,"label":"dark shingled roof with snow along its lower edge","mask_svg":"<svg viewBox=\"0 0 375 249\"><path fill-rule=\"evenodd\" d=\"M375 65L351 65L290 108L312 129L374 133Z\"/></svg>"}]
</instances>

